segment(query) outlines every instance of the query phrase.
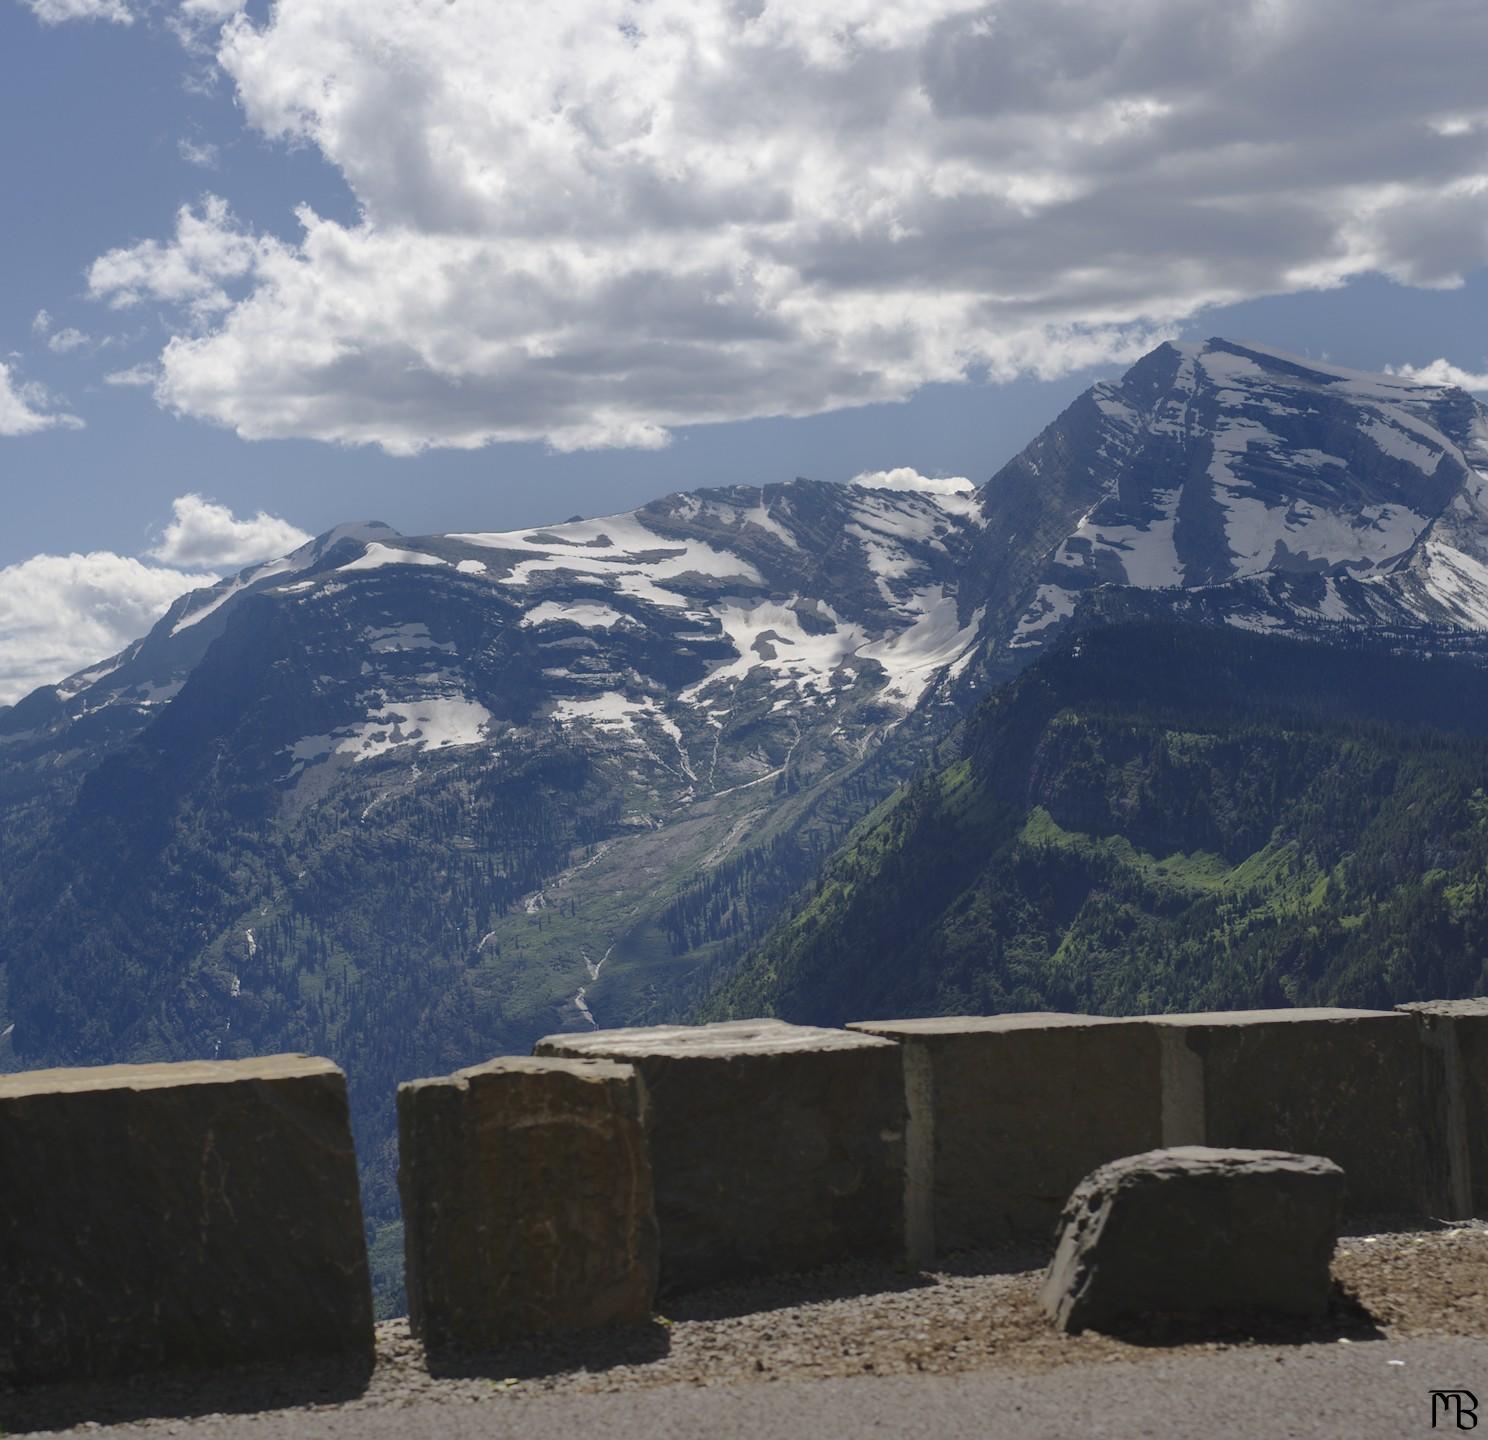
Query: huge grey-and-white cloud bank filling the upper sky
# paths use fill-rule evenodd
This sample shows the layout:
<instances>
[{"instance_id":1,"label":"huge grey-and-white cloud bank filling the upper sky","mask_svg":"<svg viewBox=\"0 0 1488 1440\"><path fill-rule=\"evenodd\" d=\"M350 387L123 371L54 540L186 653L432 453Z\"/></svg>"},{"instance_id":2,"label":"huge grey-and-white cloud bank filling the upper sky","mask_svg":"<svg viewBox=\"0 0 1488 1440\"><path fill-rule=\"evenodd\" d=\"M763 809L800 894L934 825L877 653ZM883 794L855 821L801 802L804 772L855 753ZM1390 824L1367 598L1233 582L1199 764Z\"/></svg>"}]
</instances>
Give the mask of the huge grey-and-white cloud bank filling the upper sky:
<instances>
[{"instance_id":1,"label":"huge grey-and-white cloud bank filling the upper sky","mask_svg":"<svg viewBox=\"0 0 1488 1440\"><path fill-rule=\"evenodd\" d=\"M1481 0L278 0L219 65L359 220L210 196L89 281L180 305L158 396L246 437L661 445L1455 284L1485 48Z\"/></svg>"}]
</instances>

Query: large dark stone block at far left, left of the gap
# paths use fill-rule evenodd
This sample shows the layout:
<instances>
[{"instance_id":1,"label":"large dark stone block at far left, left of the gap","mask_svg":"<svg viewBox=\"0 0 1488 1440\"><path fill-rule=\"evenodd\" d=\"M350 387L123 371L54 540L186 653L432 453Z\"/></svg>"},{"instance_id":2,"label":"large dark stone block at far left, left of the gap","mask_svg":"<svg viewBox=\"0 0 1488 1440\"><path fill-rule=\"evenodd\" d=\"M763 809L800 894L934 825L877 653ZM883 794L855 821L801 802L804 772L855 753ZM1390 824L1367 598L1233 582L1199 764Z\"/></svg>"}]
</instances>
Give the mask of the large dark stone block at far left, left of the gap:
<instances>
[{"instance_id":1,"label":"large dark stone block at far left, left of the gap","mask_svg":"<svg viewBox=\"0 0 1488 1440\"><path fill-rule=\"evenodd\" d=\"M330 1061L0 1076L0 1376L372 1354Z\"/></svg>"}]
</instances>

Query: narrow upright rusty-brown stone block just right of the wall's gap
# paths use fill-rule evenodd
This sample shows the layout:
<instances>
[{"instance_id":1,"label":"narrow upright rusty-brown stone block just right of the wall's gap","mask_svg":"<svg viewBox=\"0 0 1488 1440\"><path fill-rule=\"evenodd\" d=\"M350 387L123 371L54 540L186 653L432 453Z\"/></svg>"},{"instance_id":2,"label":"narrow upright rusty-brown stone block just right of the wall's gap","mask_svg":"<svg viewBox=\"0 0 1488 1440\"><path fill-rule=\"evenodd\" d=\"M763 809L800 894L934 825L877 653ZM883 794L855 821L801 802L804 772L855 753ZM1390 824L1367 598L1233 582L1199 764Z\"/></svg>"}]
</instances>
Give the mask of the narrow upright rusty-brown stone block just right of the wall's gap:
<instances>
[{"instance_id":1,"label":"narrow upright rusty-brown stone block just right of the wall's gap","mask_svg":"<svg viewBox=\"0 0 1488 1440\"><path fill-rule=\"evenodd\" d=\"M432 1348L641 1322L656 1217L634 1067L504 1058L399 1086L409 1320Z\"/></svg>"}]
</instances>

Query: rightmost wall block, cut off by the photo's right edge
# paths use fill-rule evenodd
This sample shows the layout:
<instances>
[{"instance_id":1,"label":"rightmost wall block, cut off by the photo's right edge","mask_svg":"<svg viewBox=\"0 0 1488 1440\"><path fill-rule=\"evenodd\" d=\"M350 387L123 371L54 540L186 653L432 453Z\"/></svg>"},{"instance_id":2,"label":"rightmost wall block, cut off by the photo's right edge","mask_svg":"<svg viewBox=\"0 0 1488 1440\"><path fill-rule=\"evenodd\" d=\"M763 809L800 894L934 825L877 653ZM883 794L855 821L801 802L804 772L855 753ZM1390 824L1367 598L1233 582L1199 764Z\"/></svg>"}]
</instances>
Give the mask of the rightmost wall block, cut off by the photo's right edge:
<instances>
[{"instance_id":1,"label":"rightmost wall block, cut off by the photo's right edge","mask_svg":"<svg viewBox=\"0 0 1488 1440\"><path fill-rule=\"evenodd\" d=\"M1421 1041L1431 1214L1488 1215L1488 1000L1426 1000L1414 1016Z\"/></svg>"}]
</instances>

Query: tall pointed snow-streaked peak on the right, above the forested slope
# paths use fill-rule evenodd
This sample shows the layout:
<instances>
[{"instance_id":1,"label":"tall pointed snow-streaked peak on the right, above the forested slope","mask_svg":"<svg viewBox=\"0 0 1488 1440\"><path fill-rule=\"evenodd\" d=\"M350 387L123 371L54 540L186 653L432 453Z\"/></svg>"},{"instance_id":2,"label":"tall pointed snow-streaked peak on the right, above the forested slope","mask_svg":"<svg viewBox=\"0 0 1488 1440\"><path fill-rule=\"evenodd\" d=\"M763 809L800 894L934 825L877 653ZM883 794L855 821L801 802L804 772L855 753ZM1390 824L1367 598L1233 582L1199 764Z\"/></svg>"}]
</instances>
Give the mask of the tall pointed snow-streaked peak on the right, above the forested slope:
<instances>
[{"instance_id":1,"label":"tall pointed snow-streaked peak on the right, above the forested slope","mask_svg":"<svg viewBox=\"0 0 1488 1440\"><path fill-rule=\"evenodd\" d=\"M1488 626L1488 411L1461 390L1220 339L1162 345L988 491L1051 480L1088 504L1042 553L1013 649L1107 585L1198 592L1263 629Z\"/></svg>"}]
</instances>

